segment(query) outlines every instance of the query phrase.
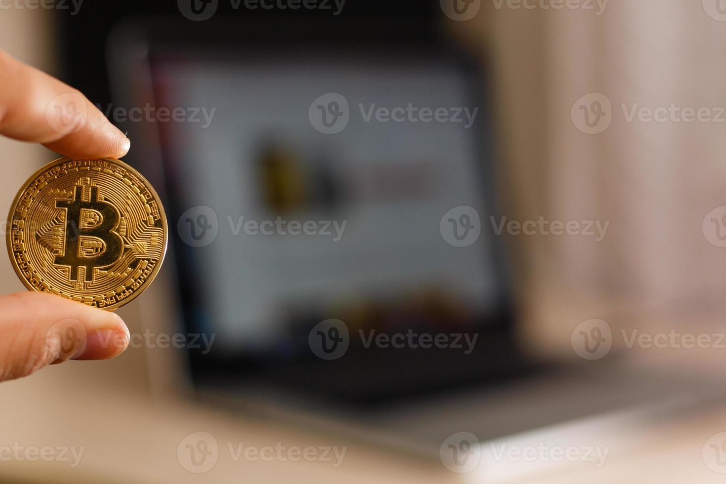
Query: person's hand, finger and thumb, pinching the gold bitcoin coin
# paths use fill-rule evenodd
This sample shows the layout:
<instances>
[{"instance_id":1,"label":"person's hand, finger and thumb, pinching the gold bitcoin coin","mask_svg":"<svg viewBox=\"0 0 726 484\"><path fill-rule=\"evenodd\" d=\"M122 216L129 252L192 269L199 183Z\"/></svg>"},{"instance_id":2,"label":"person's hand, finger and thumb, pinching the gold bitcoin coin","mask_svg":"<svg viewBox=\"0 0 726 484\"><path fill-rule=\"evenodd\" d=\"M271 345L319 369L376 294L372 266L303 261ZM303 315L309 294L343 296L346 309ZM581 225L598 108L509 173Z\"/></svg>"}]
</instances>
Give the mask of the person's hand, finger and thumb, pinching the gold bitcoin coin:
<instances>
[{"instance_id":1,"label":"person's hand, finger and thumb, pinching the gold bitcoin coin","mask_svg":"<svg viewBox=\"0 0 726 484\"><path fill-rule=\"evenodd\" d=\"M129 139L78 90L1 50L0 86L0 134L76 159L129 151ZM70 119L54 105L65 107L68 99ZM0 296L0 382L68 359L113 358L129 340L115 313L43 292Z\"/></svg>"}]
</instances>

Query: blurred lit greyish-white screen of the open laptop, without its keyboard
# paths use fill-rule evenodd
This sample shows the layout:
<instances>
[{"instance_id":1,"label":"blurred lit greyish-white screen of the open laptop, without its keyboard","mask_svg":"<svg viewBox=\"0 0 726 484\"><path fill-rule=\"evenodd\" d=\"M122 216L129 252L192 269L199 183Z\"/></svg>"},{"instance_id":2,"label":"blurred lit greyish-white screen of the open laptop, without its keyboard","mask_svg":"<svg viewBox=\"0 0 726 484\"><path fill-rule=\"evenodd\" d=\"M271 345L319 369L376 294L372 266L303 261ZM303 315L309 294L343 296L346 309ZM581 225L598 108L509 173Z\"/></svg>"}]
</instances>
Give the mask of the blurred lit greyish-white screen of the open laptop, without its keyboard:
<instances>
[{"instance_id":1,"label":"blurred lit greyish-white screen of the open laptop, without its keyboard","mask_svg":"<svg viewBox=\"0 0 726 484\"><path fill-rule=\"evenodd\" d=\"M330 318L466 326L496 303L484 231L454 247L440 228L460 205L487 213L468 76L443 59L153 62L157 104L200 109L163 124L163 152L172 224L216 217L189 253L217 350L269 351Z\"/></svg>"}]
</instances>

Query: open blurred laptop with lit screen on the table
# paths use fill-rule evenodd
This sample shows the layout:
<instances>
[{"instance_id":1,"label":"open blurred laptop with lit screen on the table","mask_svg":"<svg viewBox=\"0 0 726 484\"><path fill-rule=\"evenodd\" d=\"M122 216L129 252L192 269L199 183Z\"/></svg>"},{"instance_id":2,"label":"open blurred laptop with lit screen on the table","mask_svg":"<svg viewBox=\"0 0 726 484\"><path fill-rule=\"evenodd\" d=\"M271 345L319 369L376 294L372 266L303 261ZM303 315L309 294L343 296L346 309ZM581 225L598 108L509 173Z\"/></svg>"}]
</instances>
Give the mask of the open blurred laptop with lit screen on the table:
<instances>
[{"instance_id":1,"label":"open blurred laptop with lit screen on the table","mask_svg":"<svg viewBox=\"0 0 726 484\"><path fill-rule=\"evenodd\" d=\"M480 60L450 40L211 22L122 25L108 46L115 99L155 110L123 126L126 161L171 229L144 317L196 338L174 361L150 355L160 393L439 459L459 432L493 440L703 389L523 349L490 223Z\"/></svg>"}]
</instances>

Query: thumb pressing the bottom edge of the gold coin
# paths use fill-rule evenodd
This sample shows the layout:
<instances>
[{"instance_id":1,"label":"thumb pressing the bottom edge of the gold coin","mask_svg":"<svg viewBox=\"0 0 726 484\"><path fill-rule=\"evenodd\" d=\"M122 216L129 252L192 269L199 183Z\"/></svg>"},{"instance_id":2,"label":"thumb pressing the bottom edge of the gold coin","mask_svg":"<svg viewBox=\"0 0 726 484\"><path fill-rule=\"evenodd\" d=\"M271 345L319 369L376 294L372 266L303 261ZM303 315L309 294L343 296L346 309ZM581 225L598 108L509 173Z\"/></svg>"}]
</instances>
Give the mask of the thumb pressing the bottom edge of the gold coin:
<instances>
[{"instance_id":1,"label":"thumb pressing the bottom edge of the gold coin","mask_svg":"<svg viewBox=\"0 0 726 484\"><path fill-rule=\"evenodd\" d=\"M0 296L0 382L69 359L113 358L129 340L115 313L44 292Z\"/></svg>"}]
</instances>

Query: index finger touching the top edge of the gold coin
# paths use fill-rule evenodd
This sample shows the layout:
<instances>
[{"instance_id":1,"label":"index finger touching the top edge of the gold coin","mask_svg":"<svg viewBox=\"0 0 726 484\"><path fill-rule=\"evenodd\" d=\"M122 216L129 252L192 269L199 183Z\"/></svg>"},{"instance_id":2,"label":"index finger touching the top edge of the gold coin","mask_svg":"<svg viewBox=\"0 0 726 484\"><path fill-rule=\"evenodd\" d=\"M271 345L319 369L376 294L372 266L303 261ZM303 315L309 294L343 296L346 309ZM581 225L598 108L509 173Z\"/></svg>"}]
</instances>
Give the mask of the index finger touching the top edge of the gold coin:
<instances>
[{"instance_id":1,"label":"index finger touching the top edge of the gold coin","mask_svg":"<svg viewBox=\"0 0 726 484\"><path fill-rule=\"evenodd\" d=\"M81 94L0 50L0 134L70 158L120 158L131 146Z\"/></svg>"}]
</instances>

